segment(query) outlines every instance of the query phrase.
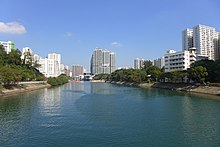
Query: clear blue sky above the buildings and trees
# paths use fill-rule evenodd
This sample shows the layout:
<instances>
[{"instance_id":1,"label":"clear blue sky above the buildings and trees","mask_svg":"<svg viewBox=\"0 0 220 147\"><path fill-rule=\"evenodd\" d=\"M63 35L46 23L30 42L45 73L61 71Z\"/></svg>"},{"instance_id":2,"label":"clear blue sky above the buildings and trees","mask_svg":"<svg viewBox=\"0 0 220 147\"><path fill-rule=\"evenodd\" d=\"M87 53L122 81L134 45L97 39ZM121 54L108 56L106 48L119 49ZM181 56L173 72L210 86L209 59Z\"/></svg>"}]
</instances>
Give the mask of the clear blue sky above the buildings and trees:
<instances>
[{"instance_id":1,"label":"clear blue sky above the buildings and trees","mask_svg":"<svg viewBox=\"0 0 220 147\"><path fill-rule=\"evenodd\" d=\"M183 29L220 31L219 8L219 0L1 0L0 40L42 57L60 53L64 64L87 70L94 48L106 48L116 52L117 67L132 67L137 57L181 50Z\"/></svg>"}]
</instances>

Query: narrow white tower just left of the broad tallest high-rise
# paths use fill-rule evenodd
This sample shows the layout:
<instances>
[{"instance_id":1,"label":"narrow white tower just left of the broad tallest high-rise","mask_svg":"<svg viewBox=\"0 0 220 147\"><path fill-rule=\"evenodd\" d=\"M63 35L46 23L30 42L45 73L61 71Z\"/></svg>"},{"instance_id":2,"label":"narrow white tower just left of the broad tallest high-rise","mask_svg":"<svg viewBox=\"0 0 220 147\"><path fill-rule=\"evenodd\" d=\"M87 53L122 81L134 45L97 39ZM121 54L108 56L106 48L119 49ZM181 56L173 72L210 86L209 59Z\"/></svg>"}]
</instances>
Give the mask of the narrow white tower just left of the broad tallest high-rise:
<instances>
[{"instance_id":1,"label":"narrow white tower just left of the broad tallest high-rise","mask_svg":"<svg viewBox=\"0 0 220 147\"><path fill-rule=\"evenodd\" d=\"M182 31L182 49L188 50L193 47L193 29L185 29Z\"/></svg>"}]
</instances>

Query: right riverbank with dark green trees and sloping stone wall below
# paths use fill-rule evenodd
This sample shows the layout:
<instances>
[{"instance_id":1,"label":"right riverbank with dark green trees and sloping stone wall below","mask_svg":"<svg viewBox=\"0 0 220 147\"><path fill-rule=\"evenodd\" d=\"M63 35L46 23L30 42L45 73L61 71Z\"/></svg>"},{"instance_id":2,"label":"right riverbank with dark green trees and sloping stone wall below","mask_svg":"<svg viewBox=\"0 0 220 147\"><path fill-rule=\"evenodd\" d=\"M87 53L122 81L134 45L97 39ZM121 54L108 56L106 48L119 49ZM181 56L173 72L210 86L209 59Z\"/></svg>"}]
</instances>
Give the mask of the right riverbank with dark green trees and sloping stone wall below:
<instances>
[{"instance_id":1,"label":"right riverbank with dark green trees and sloping stone wall below","mask_svg":"<svg viewBox=\"0 0 220 147\"><path fill-rule=\"evenodd\" d=\"M120 69L111 74L96 75L95 79L142 88L155 87L220 95L220 60L200 60L185 71L171 72L145 64L142 69Z\"/></svg>"}]
</instances>

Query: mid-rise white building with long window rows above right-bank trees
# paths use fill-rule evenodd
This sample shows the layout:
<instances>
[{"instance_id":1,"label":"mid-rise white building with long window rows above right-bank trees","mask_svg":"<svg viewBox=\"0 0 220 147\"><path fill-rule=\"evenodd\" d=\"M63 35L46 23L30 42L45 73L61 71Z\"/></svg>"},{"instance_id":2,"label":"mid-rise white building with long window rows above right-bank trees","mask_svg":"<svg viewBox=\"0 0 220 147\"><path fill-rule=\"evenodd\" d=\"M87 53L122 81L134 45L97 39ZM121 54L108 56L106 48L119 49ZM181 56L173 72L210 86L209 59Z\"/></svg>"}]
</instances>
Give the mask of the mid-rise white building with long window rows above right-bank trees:
<instances>
[{"instance_id":1,"label":"mid-rise white building with long window rows above right-bank trees","mask_svg":"<svg viewBox=\"0 0 220 147\"><path fill-rule=\"evenodd\" d=\"M180 52L169 50L165 54L165 72L174 70L187 70L195 61L195 48Z\"/></svg>"}]
</instances>

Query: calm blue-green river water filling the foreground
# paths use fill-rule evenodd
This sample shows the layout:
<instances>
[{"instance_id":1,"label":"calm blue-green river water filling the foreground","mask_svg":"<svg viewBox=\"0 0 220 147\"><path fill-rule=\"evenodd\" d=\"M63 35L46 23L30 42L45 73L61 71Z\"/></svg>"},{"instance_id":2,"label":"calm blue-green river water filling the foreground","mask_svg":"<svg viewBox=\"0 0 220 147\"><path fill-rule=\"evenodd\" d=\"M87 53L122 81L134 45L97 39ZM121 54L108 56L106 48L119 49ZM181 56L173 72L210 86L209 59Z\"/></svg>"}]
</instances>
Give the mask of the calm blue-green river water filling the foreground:
<instances>
[{"instance_id":1,"label":"calm blue-green river water filling the foreground","mask_svg":"<svg viewBox=\"0 0 220 147\"><path fill-rule=\"evenodd\" d=\"M0 146L220 146L206 97L79 82L0 98Z\"/></svg>"}]
</instances>

